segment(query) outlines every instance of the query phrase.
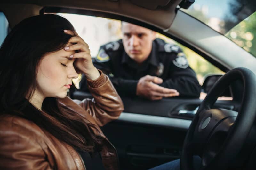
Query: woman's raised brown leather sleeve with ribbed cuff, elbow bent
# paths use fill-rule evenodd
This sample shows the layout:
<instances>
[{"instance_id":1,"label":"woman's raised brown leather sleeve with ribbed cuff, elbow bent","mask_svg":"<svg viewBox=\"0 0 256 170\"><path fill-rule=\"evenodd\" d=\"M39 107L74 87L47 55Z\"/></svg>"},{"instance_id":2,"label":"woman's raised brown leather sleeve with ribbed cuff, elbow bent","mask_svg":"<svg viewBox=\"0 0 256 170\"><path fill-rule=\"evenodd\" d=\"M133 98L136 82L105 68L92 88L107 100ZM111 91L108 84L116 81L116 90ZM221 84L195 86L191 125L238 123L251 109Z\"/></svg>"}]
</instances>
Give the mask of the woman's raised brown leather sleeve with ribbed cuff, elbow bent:
<instances>
[{"instance_id":1,"label":"woman's raised brown leather sleeve with ribbed cuff, elbow bent","mask_svg":"<svg viewBox=\"0 0 256 170\"><path fill-rule=\"evenodd\" d=\"M124 106L108 76L100 71L98 79L94 81L87 79L87 86L93 99L74 101L95 119L98 126L117 119L124 110Z\"/></svg>"}]
</instances>

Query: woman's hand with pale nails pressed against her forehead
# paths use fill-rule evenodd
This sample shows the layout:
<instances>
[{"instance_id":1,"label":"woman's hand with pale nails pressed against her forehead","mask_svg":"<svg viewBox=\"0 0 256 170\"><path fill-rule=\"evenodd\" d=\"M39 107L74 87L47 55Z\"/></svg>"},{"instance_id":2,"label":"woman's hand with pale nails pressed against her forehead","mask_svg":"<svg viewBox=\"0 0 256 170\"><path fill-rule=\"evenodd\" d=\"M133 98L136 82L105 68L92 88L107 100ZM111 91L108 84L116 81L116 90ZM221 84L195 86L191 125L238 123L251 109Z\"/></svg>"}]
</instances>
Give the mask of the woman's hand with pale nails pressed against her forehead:
<instances>
[{"instance_id":1,"label":"woman's hand with pale nails pressed against her forehead","mask_svg":"<svg viewBox=\"0 0 256 170\"><path fill-rule=\"evenodd\" d=\"M83 72L86 78L91 80L100 77L99 71L92 64L92 56L88 44L76 32L71 30L65 30L64 32L73 36L68 41L68 43L73 45L66 46L64 49L66 51L76 51L76 53L70 56L70 58L76 59L74 62L76 71Z\"/></svg>"}]
</instances>

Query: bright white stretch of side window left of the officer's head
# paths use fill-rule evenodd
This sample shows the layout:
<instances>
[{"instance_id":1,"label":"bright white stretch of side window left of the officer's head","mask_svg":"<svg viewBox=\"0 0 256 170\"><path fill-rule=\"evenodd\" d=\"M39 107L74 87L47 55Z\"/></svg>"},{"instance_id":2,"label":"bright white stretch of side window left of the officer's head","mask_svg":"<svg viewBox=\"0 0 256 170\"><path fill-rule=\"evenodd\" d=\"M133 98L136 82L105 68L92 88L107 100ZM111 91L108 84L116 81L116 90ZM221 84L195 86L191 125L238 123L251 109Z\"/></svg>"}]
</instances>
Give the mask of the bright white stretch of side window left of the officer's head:
<instances>
[{"instance_id":1,"label":"bright white stretch of side window left of the officer's head","mask_svg":"<svg viewBox=\"0 0 256 170\"><path fill-rule=\"evenodd\" d=\"M118 20L78 14L58 15L67 18L76 32L89 45L92 57L95 57L100 46L122 38L121 22Z\"/></svg>"}]
</instances>

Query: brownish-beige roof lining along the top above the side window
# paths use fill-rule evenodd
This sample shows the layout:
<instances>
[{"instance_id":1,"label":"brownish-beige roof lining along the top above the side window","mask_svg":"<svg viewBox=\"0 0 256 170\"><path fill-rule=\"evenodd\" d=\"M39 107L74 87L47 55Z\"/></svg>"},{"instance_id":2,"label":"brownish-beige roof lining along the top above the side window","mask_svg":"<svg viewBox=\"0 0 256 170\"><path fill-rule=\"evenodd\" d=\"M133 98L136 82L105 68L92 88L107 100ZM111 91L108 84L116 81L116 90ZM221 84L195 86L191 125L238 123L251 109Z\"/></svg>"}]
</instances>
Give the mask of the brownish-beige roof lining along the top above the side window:
<instances>
[{"instance_id":1,"label":"brownish-beige roof lining along the top above the side window","mask_svg":"<svg viewBox=\"0 0 256 170\"><path fill-rule=\"evenodd\" d=\"M157 1L154 4L159 4L160 7L156 8L156 10L150 10L145 7L138 6L136 4L133 4L131 1L127 1L127 0L119 0L117 2L102 1L102 0L94 0L94 1L78 0L75 2L70 2L68 0L55 0L55 1L20 0L19 2L22 4L36 4L42 7L55 6L55 7L68 7L71 9L73 8L73 9L102 11L102 12L118 14L122 16L129 16L130 18L134 18L140 21L147 21L149 24L159 26L161 29L166 29L172 24L172 21L175 18L175 8L178 4L180 4L181 1L182 0L172 0L171 3L168 3L165 6L161 6L161 2ZM10 3L10 1L4 0L4 3ZM12 4L12 6L14 5L15 3ZM132 12L130 9L132 9Z\"/></svg>"}]
</instances>

